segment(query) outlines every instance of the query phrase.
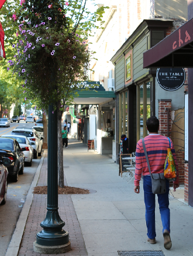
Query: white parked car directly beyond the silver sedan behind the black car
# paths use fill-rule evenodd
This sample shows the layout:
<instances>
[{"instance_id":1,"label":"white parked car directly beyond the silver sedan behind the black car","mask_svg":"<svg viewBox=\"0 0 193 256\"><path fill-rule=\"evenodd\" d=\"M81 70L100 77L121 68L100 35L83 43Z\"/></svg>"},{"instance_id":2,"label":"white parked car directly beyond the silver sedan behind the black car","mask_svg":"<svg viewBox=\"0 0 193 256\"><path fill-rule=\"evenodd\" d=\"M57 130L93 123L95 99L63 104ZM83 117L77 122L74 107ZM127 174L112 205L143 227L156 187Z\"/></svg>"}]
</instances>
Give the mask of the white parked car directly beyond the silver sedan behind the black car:
<instances>
[{"instance_id":1,"label":"white parked car directly beyond the silver sedan behind the black car","mask_svg":"<svg viewBox=\"0 0 193 256\"><path fill-rule=\"evenodd\" d=\"M35 129L30 128L15 128L11 132L13 135L23 135L26 136L30 144L33 147L33 158L37 158L37 155L41 156L42 154L42 140L40 139L39 134L37 134Z\"/></svg>"}]
</instances>

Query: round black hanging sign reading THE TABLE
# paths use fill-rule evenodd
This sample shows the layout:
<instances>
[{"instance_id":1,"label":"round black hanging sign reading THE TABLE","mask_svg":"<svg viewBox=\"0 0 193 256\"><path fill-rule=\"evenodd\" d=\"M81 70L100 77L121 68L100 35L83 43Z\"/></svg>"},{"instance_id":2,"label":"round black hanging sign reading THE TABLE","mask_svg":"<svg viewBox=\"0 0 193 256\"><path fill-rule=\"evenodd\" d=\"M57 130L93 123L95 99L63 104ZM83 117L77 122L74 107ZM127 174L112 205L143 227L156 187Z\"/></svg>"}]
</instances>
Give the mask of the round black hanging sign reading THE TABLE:
<instances>
[{"instance_id":1,"label":"round black hanging sign reading THE TABLE","mask_svg":"<svg viewBox=\"0 0 193 256\"><path fill-rule=\"evenodd\" d=\"M178 90L185 81L185 71L182 68L157 69L158 84L166 91Z\"/></svg>"}]
</instances>

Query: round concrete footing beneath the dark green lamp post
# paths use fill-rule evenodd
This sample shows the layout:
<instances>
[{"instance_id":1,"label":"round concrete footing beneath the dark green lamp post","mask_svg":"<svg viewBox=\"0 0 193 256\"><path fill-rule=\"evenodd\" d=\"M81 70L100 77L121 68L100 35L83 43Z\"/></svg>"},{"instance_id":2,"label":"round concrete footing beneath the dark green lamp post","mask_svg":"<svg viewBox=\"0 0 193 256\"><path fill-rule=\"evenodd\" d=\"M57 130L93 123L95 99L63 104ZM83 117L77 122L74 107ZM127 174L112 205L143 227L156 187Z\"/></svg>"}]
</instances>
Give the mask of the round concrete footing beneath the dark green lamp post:
<instances>
[{"instance_id":1,"label":"round concrete footing beneath the dark green lamp post","mask_svg":"<svg viewBox=\"0 0 193 256\"><path fill-rule=\"evenodd\" d=\"M71 250L70 241L67 244L58 245L58 246L45 246L33 242L33 251L39 252L42 254L61 254Z\"/></svg>"}]
</instances>

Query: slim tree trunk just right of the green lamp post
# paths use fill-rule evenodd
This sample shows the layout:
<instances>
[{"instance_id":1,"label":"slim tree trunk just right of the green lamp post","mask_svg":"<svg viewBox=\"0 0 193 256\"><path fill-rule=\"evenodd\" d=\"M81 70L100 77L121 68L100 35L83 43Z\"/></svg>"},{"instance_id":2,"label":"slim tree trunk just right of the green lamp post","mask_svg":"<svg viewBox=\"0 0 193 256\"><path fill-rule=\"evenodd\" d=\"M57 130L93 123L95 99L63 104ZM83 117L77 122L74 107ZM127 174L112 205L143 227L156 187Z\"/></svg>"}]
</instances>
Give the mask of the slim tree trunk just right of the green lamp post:
<instances>
[{"instance_id":1,"label":"slim tree trunk just right of the green lamp post","mask_svg":"<svg viewBox=\"0 0 193 256\"><path fill-rule=\"evenodd\" d=\"M60 101L57 103L58 114L58 186L64 187L64 166L63 166L63 139L61 136L61 115Z\"/></svg>"}]
</instances>

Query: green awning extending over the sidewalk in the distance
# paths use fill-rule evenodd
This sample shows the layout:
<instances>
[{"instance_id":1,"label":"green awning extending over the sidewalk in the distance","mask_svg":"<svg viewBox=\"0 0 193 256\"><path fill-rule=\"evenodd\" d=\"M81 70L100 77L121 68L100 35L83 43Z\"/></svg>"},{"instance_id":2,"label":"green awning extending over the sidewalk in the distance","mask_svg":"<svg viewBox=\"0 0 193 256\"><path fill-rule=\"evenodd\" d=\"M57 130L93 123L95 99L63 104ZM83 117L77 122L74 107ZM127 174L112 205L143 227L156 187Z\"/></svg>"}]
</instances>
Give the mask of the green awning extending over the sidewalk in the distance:
<instances>
[{"instance_id":1,"label":"green awning extending over the sidewalk in the distance","mask_svg":"<svg viewBox=\"0 0 193 256\"><path fill-rule=\"evenodd\" d=\"M80 91L78 97L74 98L73 104L102 104L116 98L114 91Z\"/></svg>"}]
</instances>

